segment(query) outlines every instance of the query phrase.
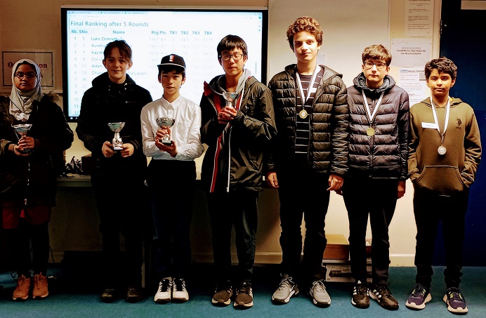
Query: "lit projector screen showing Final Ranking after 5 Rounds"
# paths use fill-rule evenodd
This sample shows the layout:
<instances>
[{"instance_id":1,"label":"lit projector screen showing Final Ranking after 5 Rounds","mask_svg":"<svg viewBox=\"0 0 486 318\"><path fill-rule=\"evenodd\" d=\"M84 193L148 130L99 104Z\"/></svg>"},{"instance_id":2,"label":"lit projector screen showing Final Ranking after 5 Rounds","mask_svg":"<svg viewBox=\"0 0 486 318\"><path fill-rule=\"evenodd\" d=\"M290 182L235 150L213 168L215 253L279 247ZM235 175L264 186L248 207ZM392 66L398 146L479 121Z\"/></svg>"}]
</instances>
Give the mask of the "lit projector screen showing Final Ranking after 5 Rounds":
<instances>
[{"instance_id":1,"label":"lit projector screen showing Final Ranking after 5 Rounds","mask_svg":"<svg viewBox=\"0 0 486 318\"><path fill-rule=\"evenodd\" d=\"M180 94L197 104L204 81L223 74L216 46L228 34L248 46L246 68L266 84L267 8L94 8L61 7L63 35L63 106L66 119L76 121L84 92L106 72L103 51L114 40L132 48L127 74L156 100L162 97L157 64L164 55L180 55L186 81Z\"/></svg>"}]
</instances>

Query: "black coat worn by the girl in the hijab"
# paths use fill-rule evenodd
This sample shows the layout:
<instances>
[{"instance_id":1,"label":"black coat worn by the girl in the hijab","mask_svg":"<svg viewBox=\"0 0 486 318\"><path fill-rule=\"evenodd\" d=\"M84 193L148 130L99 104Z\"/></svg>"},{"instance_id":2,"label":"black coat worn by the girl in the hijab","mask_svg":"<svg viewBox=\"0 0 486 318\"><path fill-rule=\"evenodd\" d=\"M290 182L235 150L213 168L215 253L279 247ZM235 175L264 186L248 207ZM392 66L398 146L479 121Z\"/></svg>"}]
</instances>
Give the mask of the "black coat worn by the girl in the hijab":
<instances>
[{"instance_id":1,"label":"black coat worn by the girl in the hijab","mask_svg":"<svg viewBox=\"0 0 486 318\"><path fill-rule=\"evenodd\" d=\"M10 98L0 96L0 138L3 139L0 197L18 200L20 204L27 199L29 206L55 206L57 177L64 168L63 150L71 147L74 140L74 133L56 100L57 95L44 94L40 102L34 101L29 119L17 121L9 113ZM28 135L40 141L40 147L28 157L8 151L10 143L18 143L12 128L15 124L32 124Z\"/></svg>"}]
</instances>

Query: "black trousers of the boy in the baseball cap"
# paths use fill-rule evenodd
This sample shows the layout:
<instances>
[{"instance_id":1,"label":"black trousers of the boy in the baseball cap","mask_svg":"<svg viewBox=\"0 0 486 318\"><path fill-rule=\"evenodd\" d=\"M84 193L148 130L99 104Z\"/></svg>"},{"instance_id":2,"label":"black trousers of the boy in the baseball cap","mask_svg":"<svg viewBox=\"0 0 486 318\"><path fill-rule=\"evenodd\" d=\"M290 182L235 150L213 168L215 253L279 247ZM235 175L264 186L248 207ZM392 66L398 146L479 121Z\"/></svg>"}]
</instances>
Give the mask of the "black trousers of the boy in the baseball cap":
<instances>
[{"instance_id":1,"label":"black trousers of the boy in the baseball cap","mask_svg":"<svg viewBox=\"0 0 486 318\"><path fill-rule=\"evenodd\" d=\"M150 161L147 185L154 225L154 267L159 281L164 277L188 278L195 182L195 161Z\"/></svg>"}]
</instances>

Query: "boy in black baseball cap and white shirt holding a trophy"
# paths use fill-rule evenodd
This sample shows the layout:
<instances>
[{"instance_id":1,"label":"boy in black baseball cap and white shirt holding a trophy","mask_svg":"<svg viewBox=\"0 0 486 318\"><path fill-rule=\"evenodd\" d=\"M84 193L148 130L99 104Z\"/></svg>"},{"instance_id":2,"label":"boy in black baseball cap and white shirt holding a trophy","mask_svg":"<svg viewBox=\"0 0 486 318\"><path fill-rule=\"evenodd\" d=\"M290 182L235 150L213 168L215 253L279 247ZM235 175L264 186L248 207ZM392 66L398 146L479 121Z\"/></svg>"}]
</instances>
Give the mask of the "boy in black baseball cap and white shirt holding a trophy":
<instances>
[{"instance_id":1,"label":"boy in black baseball cap and white shirt holding a trophy","mask_svg":"<svg viewBox=\"0 0 486 318\"><path fill-rule=\"evenodd\" d=\"M195 195L194 159L204 152L200 135L201 109L180 95L180 86L185 83L182 57L166 55L157 67L164 94L145 105L140 115L143 153L152 158L145 182L152 208L154 265L159 280L154 300L155 303L185 302L189 300L185 279L191 263L189 234Z\"/></svg>"}]
</instances>

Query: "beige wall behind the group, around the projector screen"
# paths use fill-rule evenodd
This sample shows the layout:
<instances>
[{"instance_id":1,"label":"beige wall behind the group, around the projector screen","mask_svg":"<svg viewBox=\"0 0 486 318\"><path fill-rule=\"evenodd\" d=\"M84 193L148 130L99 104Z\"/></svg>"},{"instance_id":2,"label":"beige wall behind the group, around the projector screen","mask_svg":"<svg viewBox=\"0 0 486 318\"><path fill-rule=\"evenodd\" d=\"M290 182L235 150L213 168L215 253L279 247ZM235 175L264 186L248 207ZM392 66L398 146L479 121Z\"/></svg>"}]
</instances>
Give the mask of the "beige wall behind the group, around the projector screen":
<instances>
[{"instance_id":1,"label":"beige wall behind the group, around the projector screen","mask_svg":"<svg viewBox=\"0 0 486 318\"><path fill-rule=\"evenodd\" d=\"M62 5L106 5L106 6L160 6L162 1L150 0L32 0L29 5L21 1L0 0L0 50L8 49L43 49L55 51L55 77L57 87L62 87L60 6ZM353 78L360 72L362 49L370 44L383 44L390 48L393 38L404 37L406 0L247 0L244 6L268 6L269 8L269 44L268 44L268 79L280 72L283 67L295 61L285 37L287 26L301 15L310 15L322 24L324 43L320 53L320 62L343 74L346 85L351 85ZM438 16L440 0L435 3L435 22L433 30L433 55L438 55ZM359 4L358 4L359 3ZM164 6L241 6L240 0L165 0ZM20 22L21 21L21 22ZM390 74L395 77L396 69ZM395 77L396 78L396 77ZM62 93L62 91L58 91ZM4 92L5 93L5 92ZM76 124L71 124L73 130ZM79 140L75 140L67 152L67 159L72 156L81 158L88 151ZM99 249L99 235L96 233L96 220L92 211L86 218L79 216L89 206L83 199L91 192L83 190L61 191L60 195L80 194L77 199L60 199L63 206L53 215L51 235L54 250ZM74 194L73 194L74 193ZM379 199L379 189L376 197ZM76 201L78 200L78 201ZM72 204L67 208L65 204ZM77 202L82 204L77 204ZM280 262L280 224L278 220L278 194L276 190L265 190L261 194L261 212L257 236L257 263ZM63 210L63 211L60 211ZM79 210L79 211L78 211ZM62 213L62 214L61 214ZM57 214L57 216L56 216ZM89 215L89 216L88 216ZM82 216L82 214L81 214ZM94 215L96 218L96 215ZM88 232L84 230L89 229ZM331 194L326 231L348 236L348 218L342 197ZM395 217L390 225L390 259L396 266L413 265L416 228L412 213L412 185L407 183L405 197L398 201ZM371 234L369 233L369 237ZM192 249L195 260L211 260L210 229L204 200L197 199L197 211L192 223Z\"/></svg>"}]
</instances>

